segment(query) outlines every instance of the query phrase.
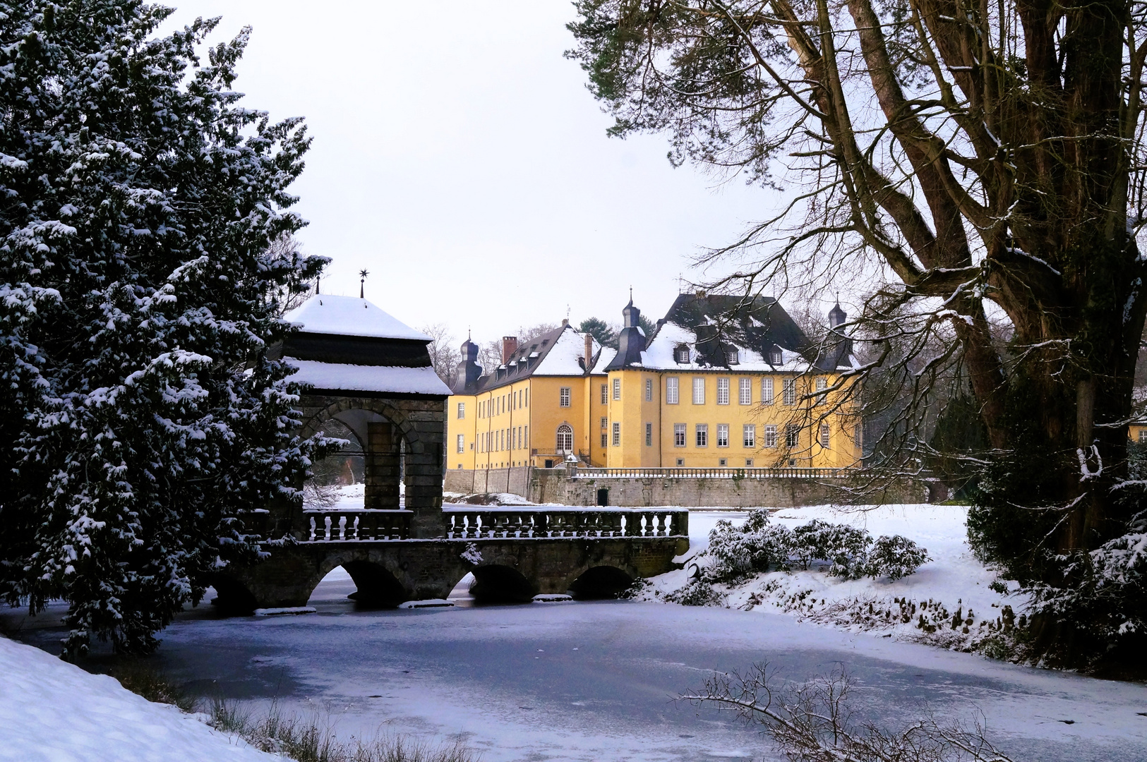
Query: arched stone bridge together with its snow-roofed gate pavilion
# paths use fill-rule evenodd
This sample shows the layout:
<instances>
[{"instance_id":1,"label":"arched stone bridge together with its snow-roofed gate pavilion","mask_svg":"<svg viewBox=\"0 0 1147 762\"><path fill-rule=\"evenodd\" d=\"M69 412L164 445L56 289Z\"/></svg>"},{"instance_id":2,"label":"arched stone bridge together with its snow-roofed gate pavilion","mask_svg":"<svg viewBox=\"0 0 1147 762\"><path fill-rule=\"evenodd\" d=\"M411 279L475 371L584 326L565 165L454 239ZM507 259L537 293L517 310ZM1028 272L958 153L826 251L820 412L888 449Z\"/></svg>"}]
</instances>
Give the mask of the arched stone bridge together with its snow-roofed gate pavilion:
<instances>
[{"instance_id":1,"label":"arched stone bridge together with its snow-roofed gate pavilion","mask_svg":"<svg viewBox=\"0 0 1147 762\"><path fill-rule=\"evenodd\" d=\"M445 598L469 573L471 592L489 600L615 595L637 578L670 571L688 549L685 511L444 510L451 392L431 366L430 337L362 298L315 293L286 317L296 330L271 355L296 368L299 434L351 442L340 457L346 468L361 459L364 502L252 510L247 531L272 541L270 553L214 575L221 608L305 606L338 566L358 586L356 599L369 605Z\"/></svg>"}]
</instances>

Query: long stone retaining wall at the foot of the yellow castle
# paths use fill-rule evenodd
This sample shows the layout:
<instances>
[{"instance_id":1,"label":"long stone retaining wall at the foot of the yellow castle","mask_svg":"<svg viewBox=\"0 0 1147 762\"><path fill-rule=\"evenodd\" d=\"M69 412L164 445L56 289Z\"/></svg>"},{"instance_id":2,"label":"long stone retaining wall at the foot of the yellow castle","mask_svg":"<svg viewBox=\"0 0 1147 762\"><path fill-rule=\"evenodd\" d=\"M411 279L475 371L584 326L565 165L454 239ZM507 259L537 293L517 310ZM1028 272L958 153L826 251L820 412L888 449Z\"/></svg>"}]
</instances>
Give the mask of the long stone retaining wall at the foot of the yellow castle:
<instances>
[{"instance_id":1,"label":"long stone retaining wall at the foot of the yellow castle","mask_svg":"<svg viewBox=\"0 0 1147 762\"><path fill-rule=\"evenodd\" d=\"M861 477L863 478L863 477ZM606 504L622 508L684 505L689 508L767 505L791 508L822 503L855 502L849 490L866 486L848 478L697 478L697 477L606 477L570 478L560 469L452 470L446 472L446 492L522 495L533 503L598 505L598 490L606 489ZM928 503L946 498L946 490L923 480L898 480L880 489L866 490L865 503Z\"/></svg>"}]
</instances>

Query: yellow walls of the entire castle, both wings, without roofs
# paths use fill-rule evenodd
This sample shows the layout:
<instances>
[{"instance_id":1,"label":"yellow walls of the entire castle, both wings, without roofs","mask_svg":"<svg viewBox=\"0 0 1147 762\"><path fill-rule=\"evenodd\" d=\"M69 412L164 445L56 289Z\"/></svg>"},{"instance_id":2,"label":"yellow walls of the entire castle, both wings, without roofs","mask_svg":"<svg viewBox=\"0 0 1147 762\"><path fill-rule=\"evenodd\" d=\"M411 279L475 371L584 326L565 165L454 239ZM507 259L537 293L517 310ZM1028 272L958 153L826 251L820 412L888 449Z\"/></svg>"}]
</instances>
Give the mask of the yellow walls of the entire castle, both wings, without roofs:
<instances>
[{"instance_id":1,"label":"yellow walls of the entire castle, both wings, without roofs","mask_svg":"<svg viewBox=\"0 0 1147 762\"><path fill-rule=\"evenodd\" d=\"M560 465L572 453L583 463L608 468L858 465L857 418L848 406L834 409L838 406L832 393L810 399L818 378L826 387L838 380L827 374L615 370L530 377L479 394L455 394L450 400L447 464L545 468ZM772 382L770 403L763 401L765 379ZM786 380L794 384L791 403L786 403ZM748 396L742 396L742 384ZM565 426L569 450L559 446ZM795 433L791 446L789 427Z\"/></svg>"}]
</instances>

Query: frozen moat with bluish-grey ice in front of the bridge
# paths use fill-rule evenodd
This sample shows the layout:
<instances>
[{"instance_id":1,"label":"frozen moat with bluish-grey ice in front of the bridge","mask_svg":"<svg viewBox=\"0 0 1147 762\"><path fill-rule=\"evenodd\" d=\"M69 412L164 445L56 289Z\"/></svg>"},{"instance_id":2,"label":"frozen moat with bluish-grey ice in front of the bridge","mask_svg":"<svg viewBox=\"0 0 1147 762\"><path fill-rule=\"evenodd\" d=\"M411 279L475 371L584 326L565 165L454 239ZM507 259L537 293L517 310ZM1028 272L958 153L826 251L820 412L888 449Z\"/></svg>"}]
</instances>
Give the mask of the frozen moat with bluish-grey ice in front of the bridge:
<instances>
[{"instance_id":1,"label":"frozen moat with bluish-grey ice in front of the bridge","mask_svg":"<svg viewBox=\"0 0 1147 762\"><path fill-rule=\"evenodd\" d=\"M786 615L629 602L356 611L340 571L318 613L212 619L201 607L156 657L204 693L329 714L341 734L461 738L501 760L779 759L732 715L676 704L712 669L767 660L806 679L837 665L856 706L896 724L983 714L1017 760L1147 756L1147 688L852 635ZM25 630L53 647L60 633ZM1066 721L1071 721L1067 724Z\"/></svg>"}]
</instances>

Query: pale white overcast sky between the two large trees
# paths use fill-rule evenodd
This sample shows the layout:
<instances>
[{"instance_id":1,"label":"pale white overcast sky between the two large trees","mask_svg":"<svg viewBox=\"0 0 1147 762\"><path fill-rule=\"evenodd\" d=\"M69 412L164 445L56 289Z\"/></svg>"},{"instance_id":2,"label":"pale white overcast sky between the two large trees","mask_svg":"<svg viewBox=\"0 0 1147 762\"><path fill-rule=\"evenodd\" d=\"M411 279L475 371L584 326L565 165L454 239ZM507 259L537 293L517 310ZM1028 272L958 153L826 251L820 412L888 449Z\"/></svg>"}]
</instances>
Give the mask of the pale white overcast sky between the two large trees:
<instances>
[{"instance_id":1,"label":"pale white overcast sky between the two large trees","mask_svg":"<svg viewBox=\"0 0 1147 762\"><path fill-rule=\"evenodd\" d=\"M169 0L172 1L172 0ZM299 238L330 257L323 291L465 338L664 315L689 258L768 206L740 180L674 170L663 135L606 136L563 0L184 0L172 23L253 28L236 89L306 118ZM694 278L701 276L693 273Z\"/></svg>"}]
</instances>

